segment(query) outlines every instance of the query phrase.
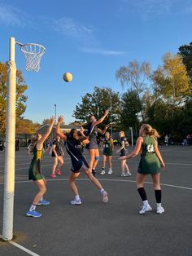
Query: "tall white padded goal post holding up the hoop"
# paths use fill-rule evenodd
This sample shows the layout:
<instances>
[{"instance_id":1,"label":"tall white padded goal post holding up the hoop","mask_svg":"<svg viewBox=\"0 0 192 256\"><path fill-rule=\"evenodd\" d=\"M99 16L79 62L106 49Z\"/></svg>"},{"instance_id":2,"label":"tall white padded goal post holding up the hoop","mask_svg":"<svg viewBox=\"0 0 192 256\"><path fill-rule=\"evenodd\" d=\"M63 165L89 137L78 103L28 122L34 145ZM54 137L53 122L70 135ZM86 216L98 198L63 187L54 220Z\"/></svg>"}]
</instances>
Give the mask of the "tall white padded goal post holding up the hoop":
<instances>
[{"instance_id":1,"label":"tall white padded goal post holding up the hoop","mask_svg":"<svg viewBox=\"0 0 192 256\"><path fill-rule=\"evenodd\" d=\"M10 60L7 61L7 126L6 154L4 174L4 202L2 239L9 241L13 237L13 209L15 190L15 38L10 38Z\"/></svg>"}]
</instances>

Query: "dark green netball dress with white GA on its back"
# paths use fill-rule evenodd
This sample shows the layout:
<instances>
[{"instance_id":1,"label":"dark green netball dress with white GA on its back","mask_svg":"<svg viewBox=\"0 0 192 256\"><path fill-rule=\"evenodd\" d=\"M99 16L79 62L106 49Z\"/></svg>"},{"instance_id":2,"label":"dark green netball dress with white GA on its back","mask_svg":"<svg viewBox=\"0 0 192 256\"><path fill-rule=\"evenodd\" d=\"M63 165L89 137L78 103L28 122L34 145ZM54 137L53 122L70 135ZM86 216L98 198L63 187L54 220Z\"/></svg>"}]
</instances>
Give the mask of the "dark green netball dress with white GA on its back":
<instances>
[{"instance_id":1,"label":"dark green netball dress with white GA on its back","mask_svg":"<svg viewBox=\"0 0 192 256\"><path fill-rule=\"evenodd\" d=\"M155 154L155 139L144 136L142 143L141 161L138 166L140 174L156 174L160 170L159 159Z\"/></svg>"}]
</instances>

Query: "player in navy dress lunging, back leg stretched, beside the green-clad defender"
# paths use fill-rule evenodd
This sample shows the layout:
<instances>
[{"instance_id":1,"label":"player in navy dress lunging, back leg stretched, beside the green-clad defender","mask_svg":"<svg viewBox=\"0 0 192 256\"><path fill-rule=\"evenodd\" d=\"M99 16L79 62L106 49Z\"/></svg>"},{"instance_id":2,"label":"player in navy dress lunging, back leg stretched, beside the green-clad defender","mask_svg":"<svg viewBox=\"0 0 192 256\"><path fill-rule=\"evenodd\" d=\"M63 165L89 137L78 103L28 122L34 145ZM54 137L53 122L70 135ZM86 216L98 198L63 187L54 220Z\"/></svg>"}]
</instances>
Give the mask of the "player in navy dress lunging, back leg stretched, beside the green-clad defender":
<instances>
[{"instance_id":1,"label":"player in navy dress lunging, back leg stretched, beside the green-clad defender","mask_svg":"<svg viewBox=\"0 0 192 256\"><path fill-rule=\"evenodd\" d=\"M76 187L76 179L81 174L81 172L85 172L87 177L90 179L91 182L100 190L103 196L103 202L108 201L107 192L103 189L101 183L96 179L91 170L89 169L89 165L85 160L85 157L82 155L81 146L82 143L89 143L89 139L85 136L79 136L76 129L72 129L69 135L64 135L60 130L60 124L63 121L63 116L59 116L57 127L56 127L56 134L59 135L61 139L64 139L66 142L66 150L71 157L72 160L72 169L69 178L70 187L72 189L73 194L75 195L74 200L70 203L71 205L81 205L81 198L79 196L78 188Z\"/></svg>"}]
</instances>

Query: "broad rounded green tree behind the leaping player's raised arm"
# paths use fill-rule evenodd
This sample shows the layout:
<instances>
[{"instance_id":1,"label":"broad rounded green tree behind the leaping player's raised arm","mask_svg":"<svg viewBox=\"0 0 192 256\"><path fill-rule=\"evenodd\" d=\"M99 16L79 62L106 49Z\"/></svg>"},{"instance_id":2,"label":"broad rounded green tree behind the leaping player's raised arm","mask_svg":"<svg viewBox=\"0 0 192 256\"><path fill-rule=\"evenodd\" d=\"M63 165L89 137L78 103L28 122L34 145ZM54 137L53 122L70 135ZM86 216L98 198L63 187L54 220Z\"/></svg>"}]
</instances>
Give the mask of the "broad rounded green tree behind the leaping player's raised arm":
<instances>
[{"instance_id":1,"label":"broad rounded green tree behind the leaping player's raised arm","mask_svg":"<svg viewBox=\"0 0 192 256\"><path fill-rule=\"evenodd\" d=\"M76 105L76 110L72 115L77 121L89 121L90 115L94 115L98 119L103 116L105 110L111 107L111 115L103 123L119 120L120 95L111 90L111 88L95 86L93 94L86 93L81 98L81 104L78 103Z\"/></svg>"}]
</instances>

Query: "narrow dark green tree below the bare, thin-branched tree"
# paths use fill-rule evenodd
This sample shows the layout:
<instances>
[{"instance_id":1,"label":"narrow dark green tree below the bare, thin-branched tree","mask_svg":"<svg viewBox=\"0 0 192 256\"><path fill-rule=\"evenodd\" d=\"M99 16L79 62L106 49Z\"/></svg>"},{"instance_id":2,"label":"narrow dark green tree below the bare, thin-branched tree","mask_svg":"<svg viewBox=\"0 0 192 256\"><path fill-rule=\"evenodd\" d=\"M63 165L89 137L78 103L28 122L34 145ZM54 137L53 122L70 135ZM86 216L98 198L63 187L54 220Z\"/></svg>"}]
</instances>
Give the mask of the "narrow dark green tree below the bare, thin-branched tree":
<instances>
[{"instance_id":1,"label":"narrow dark green tree below the bare, thin-branched tree","mask_svg":"<svg viewBox=\"0 0 192 256\"><path fill-rule=\"evenodd\" d=\"M135 90L128 90L121 97L120 121L126 130L133 127L134 133L138 130L142 104Z\"/></svg>"}]
</instances>

